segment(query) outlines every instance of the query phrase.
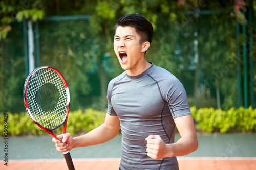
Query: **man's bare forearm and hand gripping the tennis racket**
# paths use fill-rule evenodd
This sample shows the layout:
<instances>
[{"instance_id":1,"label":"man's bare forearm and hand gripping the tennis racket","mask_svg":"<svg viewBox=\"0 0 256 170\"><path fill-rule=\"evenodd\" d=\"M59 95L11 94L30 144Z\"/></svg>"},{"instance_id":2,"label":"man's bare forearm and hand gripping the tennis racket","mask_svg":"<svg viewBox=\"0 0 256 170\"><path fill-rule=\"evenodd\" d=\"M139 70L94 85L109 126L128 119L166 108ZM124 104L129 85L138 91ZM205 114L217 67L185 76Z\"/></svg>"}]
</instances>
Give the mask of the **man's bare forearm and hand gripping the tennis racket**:
<instances>
[{"instance_id":1,"label":"man's bare forearm and hand gripping the tennis racket","mask_svg":"<svg viewBox=\"0 0 256 170\"><path fill-rule=\"evenodd\" d=\"M120 120L118 116L110 116L106 114L105 122L87 134L73 138L69 133L63 138L62 135L57 136L59 140L52 139L56 144L59 152L66 152L77 147L87 147L90 145L101 144L116 137L120 129Z\"/></svg>"}]
</instances>

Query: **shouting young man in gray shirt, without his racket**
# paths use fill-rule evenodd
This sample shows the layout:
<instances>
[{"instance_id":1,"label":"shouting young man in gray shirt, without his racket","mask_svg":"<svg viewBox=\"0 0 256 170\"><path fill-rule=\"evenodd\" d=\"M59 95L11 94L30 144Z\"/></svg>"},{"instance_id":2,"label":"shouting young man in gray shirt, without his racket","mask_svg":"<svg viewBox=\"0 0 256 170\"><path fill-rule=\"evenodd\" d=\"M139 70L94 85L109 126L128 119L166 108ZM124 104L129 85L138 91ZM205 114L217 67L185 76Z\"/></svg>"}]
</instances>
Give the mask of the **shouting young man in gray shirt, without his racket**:
<instances>
[{"instance_id":1,"label":"shouting young man in gray shirt, without his racket","mask_svg":"<svg viewBox=\"0 0 256 170\"><path fill-rule=\"evenodd\" d=\"M114 50L125 71L109 83L105 122L82 136L72 138L67 133L63 143L53 138L58 151L104 143L114 138L120 127L122 170L179 169L176 156L197 150L183 85L145 59L152 37L153 27L143 16L130 14L118 20ZM181 138L174 143L176 127Z\"/></svg>"}]
</instances>

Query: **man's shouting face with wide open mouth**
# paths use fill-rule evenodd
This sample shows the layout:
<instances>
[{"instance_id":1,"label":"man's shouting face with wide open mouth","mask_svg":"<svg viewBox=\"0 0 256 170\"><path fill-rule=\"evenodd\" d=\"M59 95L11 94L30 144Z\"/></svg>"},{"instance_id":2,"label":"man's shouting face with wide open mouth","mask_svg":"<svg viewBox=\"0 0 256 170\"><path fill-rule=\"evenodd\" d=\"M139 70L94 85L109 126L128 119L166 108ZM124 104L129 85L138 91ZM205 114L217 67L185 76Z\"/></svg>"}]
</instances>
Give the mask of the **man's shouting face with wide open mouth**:
<instances>
[{"instance_id":1,"label":"man's shouting face with wide open mouth","mask_svg":"<svg viewBox=\"0 0 256 170\"><path fill-rule=\"evenodd\" d=\"M128 75L136 71L144 61L143 44L134 27L117 27L114 50L122 69L126 70Z\"/></svg>"}]
</instances>

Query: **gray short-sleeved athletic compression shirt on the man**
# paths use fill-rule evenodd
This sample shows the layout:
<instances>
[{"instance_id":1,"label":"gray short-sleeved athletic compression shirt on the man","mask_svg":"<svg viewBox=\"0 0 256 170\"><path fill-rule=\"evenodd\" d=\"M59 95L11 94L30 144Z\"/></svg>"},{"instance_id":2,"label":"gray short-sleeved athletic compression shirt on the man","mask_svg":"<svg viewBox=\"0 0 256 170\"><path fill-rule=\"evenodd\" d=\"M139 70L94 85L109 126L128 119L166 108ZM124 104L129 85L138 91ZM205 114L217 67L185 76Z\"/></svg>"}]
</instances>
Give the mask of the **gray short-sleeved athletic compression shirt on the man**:
<instances>
[{"instance_id":1,"label":"gray short-sleeved athletic compression shirt on the man","mask_svg":"<svg viewBox=\"0 0 256 170\"><path fill-rule=\"evenodd\" d=\"M179 169L176 157L148 157L145 140L153 134L174 143L174 119L191 115L185 89L174 75L154 64L138 76L123 72L110 81L107 98L108 114L120 119L122 170Z\"/></svg>"}]
</instances>

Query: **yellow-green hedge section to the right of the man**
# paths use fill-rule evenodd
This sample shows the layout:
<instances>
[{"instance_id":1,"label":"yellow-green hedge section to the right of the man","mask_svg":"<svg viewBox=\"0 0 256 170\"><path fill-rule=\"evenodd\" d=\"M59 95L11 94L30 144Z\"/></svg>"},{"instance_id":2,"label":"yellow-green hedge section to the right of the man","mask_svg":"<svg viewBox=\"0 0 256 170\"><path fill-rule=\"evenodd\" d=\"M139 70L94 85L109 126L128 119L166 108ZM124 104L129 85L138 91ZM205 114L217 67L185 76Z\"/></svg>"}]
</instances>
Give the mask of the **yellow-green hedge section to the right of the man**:
<instances>
[{"instance_id":1,"label":"yellow-green hedge section to the right of the man","mask_svg":"<svg viewBox=\"0 0 256 170\"><path fill-rule=\"evenodd\" d=\"M249 107L245 109L231 108L227 111L214 108L191 107L191 113L196 126L203 132L220 132L230 131L237 132L255 132L256 131L256 109Z\"/></svg>"}]
</instances>

